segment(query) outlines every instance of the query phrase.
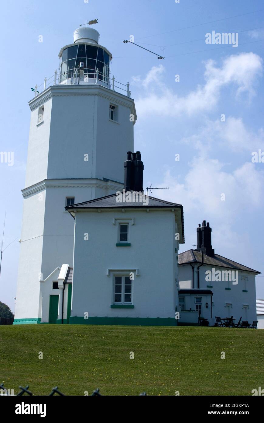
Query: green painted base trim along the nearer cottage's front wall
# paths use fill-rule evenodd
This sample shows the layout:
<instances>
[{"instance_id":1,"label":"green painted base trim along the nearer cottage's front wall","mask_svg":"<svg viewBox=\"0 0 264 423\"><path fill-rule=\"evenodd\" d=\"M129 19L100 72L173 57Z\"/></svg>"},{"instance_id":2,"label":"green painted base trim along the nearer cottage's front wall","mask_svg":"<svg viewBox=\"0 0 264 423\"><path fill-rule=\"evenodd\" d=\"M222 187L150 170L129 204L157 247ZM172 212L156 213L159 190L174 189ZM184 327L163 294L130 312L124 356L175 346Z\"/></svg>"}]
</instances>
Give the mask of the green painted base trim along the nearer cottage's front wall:
<instances>
[{"instance_id":1,"label":"green painted base trim along the nearer cottage's front wall","mask_svg":"<svg viewBox=\"0 0 264 423\"><path fill-rule=\"evenodd\" d=\"M70 317L70 324L120 324L132 326L177 326L173 317Z\"/></svg>"}]
</instances>

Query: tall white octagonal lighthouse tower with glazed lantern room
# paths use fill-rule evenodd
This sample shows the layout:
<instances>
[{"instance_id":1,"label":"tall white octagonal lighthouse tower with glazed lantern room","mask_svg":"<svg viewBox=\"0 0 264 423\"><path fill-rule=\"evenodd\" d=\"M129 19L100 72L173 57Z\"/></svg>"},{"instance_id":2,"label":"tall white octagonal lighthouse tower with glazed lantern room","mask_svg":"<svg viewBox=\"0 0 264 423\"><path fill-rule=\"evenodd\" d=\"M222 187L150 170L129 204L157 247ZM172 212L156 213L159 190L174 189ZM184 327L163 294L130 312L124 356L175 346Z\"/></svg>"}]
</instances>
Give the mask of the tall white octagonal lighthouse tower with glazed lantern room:
<instances>
[{"instance_id":1,"label":"tall white octagonal lighthouse tower with glazed lantern room","mask_svg":"<svg viewBox=\"0 0 264 423\"><path fill-rule=\"evenodd\" d=\"M62 263L72 266L74 221L65 206L124 185L136 110L129 84L110 76L112 55L99 37L79 27L59 52L59 72L29 102L15 324L40 321L40 280Z\"/></svg>"}]
</instances>

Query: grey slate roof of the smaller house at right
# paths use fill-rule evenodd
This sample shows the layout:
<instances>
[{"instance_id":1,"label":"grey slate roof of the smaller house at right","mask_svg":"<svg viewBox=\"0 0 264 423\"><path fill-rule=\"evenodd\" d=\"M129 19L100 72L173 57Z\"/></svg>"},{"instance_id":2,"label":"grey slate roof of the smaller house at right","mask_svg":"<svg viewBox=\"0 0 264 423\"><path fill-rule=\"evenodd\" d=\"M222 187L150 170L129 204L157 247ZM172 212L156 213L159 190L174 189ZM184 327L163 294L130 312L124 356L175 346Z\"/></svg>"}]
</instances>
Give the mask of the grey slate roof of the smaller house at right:
<instances>
[{"instance_id":1,"label":"grey slate roof of the smaller house at right","mask_svg":"<svg viewBox=\"0 0 264 423\"><path fill-rule=\"evenodd\" d=\"M178 263L179 265L187 263L202 263L202 253L201 251L187 250L184 253L179 254ZM204 254L204 264L209 264L210 266L226 267L228 269L245 270L245 272L261 273L219 254L215 254L214 257L210 257L210 255Z\"/></svg>"}]
</instances>

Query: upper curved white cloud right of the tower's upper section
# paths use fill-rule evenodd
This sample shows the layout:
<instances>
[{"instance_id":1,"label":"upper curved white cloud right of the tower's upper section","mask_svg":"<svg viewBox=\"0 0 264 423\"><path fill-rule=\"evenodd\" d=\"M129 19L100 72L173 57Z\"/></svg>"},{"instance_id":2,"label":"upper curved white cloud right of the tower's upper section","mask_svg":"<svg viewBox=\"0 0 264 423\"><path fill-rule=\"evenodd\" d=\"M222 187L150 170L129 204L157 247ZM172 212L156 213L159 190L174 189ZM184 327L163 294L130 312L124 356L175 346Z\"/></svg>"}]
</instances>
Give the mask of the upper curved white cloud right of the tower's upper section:
<instances>
[{"instance_id":1,"label":"upper curved white cloud right of the tower's upper section","mask_svg":"<svg viewBox=\"0 0 264 423\"><path fill-rule=\"evenodd\" d=\"M134 84L145 89L136 100L136 108L141 116L159 113L166 116L178 116L182 113L192 115L214 107L220 97L220 89L234 84L236 95L247 92L251 98L254 94L256 77L261 74L262 59L254 53L231 55L223 60L222 67L216 67L215 61L205 63L204 85L198 85L195 91L180 97L171 92L164 84L163 65L153 66L144 79L134 77Z\"/></svg>"}]
</instances>

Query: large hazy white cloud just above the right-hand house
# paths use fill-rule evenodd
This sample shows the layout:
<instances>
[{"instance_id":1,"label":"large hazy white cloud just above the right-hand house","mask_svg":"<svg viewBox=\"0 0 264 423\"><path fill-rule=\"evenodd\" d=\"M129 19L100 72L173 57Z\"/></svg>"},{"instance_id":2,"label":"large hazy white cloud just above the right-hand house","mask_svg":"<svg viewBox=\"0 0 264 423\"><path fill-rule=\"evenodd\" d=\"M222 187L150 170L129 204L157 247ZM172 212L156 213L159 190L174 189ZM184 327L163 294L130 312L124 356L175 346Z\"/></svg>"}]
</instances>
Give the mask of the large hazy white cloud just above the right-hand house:
<instances>
[{"instance_id":1,"label":"large hazy white cloud just above the right-hand house","mask_svg":"<svg viewBox=\"0 0 264 423\"><path fill-rule=\"evenodd\" d=\"M162 192L168 201L183 204L186 212L204 213L210 218L232 222L242 209L261 206L264 198L264 171L253 163L245 163L233 172L226 172L223 163L205 157L194 158L184 183L166 171L160 186L170 189ZM225 201L221 200L225 195Z\"/></svg>"}]
</instances>

